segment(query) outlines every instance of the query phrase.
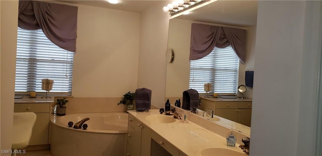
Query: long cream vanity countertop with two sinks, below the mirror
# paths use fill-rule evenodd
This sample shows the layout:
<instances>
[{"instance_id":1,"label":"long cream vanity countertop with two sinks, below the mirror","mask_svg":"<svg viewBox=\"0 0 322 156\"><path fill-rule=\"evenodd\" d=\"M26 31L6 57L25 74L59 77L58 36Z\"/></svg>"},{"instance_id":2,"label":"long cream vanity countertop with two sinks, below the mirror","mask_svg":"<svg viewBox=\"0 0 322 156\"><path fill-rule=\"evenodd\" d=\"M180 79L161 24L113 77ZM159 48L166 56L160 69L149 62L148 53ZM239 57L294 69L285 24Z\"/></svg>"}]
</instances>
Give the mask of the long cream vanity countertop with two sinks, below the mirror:
<instances>
[{"instance_id":1,"label":"long cream vanity countertop with two sinks, below the mirror","mask_svg":"<svg viewBox=\"0 0 322 156\"><path fill-rule=\"evenodd\" d=\"M225 137L191 121L183 123L176 119L172 123L157 123L145 118L149 115L163 115L158 109L151 109L148 112L136 112L136 110L128 112L187 155L201 155L201 151L206 148L227 148L247 155L238 147L239 144L236 143L235 147L228 147Z\"/></svg>"}]
</instances>

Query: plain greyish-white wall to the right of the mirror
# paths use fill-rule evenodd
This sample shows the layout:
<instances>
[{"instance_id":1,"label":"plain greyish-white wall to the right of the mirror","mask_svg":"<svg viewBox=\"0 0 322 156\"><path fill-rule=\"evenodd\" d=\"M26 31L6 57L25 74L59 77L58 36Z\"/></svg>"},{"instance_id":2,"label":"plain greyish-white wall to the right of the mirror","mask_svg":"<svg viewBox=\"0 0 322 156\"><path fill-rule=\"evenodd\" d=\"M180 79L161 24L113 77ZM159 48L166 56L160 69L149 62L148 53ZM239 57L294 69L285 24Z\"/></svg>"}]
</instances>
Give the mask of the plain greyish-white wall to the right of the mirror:
<instances>
[{"instance_id":1,"label":"plain greyish-white wall to the right of the mirror","mask_svg":"<svg viewBox=\"0 0 322 156\"><path fill-rule=\"evenodd\" d=\"M251 155L297 155L306 143L297 138L304 13L304 1L258 2Z\"/></svg>"}]
</instances>

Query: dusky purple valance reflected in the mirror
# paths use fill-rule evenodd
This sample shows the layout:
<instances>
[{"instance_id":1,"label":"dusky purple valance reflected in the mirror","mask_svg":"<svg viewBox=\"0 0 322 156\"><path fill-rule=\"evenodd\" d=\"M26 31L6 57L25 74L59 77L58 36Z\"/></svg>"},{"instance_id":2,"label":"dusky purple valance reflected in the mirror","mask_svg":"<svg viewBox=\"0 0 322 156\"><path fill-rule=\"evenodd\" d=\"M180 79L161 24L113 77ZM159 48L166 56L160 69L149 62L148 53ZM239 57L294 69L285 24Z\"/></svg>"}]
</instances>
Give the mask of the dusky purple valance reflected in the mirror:
<instances>
[{"instance_id":1,"label":"dusky purple valance reflected in the mirror","mask_svg":"<svg viewBox=\"0 0 322 156\"><path fill-rule=\"evenodd\" d=\"M193 23L191 25L190 60L201 59L215 47L231 45L241 62L245 62L246 30Z\"/></svg>"}]
</instances>

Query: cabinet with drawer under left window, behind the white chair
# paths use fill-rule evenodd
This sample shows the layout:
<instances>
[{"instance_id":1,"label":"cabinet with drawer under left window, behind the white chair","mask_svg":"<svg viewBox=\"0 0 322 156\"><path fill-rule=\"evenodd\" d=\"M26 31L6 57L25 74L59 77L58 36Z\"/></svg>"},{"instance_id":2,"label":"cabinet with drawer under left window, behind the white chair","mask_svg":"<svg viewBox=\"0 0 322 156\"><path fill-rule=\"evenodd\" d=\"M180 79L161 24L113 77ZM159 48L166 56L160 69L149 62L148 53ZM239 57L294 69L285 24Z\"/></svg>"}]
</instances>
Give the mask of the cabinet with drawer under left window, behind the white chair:
<instances>
[{"instance_id":1,"label":"cabinet with drawer under left window, behind the white chair","mask_svg":"<svg viewBox=\"0 0 322 156\"><path fill-rule=\"evenodd\" d=\"M34 112L37 115L29 145L48 144L50 103L16 103L14 112Z\"/></svg>"}]
</instances>

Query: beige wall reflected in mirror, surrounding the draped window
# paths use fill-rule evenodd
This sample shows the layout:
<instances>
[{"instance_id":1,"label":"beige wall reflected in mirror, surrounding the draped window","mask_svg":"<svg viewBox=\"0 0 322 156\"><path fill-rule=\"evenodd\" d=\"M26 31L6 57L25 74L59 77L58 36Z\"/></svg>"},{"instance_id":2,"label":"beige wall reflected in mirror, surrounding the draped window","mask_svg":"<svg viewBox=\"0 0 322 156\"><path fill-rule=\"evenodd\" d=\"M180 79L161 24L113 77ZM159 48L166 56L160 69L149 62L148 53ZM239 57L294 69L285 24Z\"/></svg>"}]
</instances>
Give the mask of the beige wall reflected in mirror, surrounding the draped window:
<instances>
[{"instance_id":1,"label":"beige wall reflected in mirror, surrounding the draped window","mask_svg":"<svg viewBox=\"0 0 322 156\"><path fill-rule=\"evenodd\" d=\"M181 20L181 19L171 19L169 26L169 43L168 47L174 49L175 51L175 61L173 64L167 65L167 84L166 84L166 97L181 97L182 92L189 89L189 76L190 76L190 62L189 62L189 52L190 52L190 35L191 35L191 24L192 23L202 23L208 25L218 24ZM232 26L225 26L232 27ZM245 71L254 70L254 53L255 53L255 32L256 27L251 28L241 28L247 29L247 46L246 46L246 62L244 64L239 64L239 79L238 84L245 85ZM249 98L253 97L253 90L249 90L246 96Z\"/></svg>"}]
</instances>

